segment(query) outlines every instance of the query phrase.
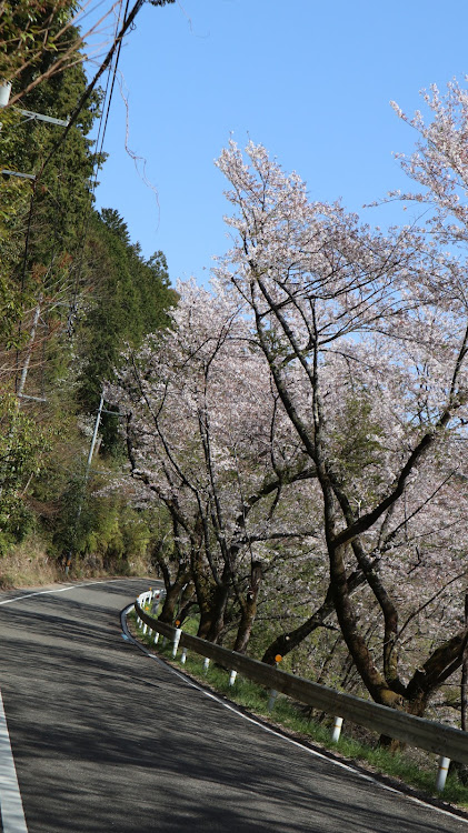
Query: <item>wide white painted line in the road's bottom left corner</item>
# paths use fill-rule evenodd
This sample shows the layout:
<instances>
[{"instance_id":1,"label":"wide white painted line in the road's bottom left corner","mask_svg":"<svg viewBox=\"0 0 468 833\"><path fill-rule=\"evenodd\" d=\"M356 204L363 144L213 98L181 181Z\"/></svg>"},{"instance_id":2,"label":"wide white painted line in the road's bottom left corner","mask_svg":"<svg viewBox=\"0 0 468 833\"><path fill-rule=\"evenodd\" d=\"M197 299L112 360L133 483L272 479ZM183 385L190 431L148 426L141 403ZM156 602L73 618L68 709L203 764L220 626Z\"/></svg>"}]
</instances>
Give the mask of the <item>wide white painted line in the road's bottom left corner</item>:
<instances>
[{"instance_id":1,"label":"wide white painted line in the road's bottom left corner","mask_svg":"<svg viewBox=\"0 0 468 833\"><path fill-rule=\"evenodd\" d=\"M28 833L0 692L0 806L3 833Z\"/></svg>"}]
</instances>

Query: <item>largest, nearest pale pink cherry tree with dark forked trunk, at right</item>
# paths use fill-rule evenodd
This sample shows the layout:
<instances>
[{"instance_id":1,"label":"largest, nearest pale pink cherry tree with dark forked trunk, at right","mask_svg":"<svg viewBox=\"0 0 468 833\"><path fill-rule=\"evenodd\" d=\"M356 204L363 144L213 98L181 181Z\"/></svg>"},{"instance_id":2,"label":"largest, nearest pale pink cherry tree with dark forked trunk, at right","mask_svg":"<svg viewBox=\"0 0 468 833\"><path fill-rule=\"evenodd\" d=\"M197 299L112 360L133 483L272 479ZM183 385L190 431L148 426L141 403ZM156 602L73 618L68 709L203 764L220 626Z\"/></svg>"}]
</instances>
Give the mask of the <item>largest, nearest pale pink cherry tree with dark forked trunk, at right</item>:
<instances>
[{"instance_id":1,"label":"largest, nearest pale pink cherry tree with dark forked trunk, at right","mask_svg":"<svg viewBox=\"0 0 468 833\"><path fill-rule=\"evenodd\" d=\"M441 227L437 247L424 229L385 237L340 204L311 202L300 178L261 145L250 142L246 157L231 142L218 160L230 183L233 245L217 275L245 304L315 468L326 601L332 599L352 662L377 702L421 714L461 664L467 641L466 539L450 541L448 531L460 533L466 511L466 264L440 249ZM442 185L424 170L437 208ZM357 571L379 610L371 638L369 603L352 595ZM452 608L454 590L460 593L457 610L439 623L436 642L426 630L415 669L401 643L416 622L427 625L424 613L444 594L447 601L448 588Z\"/></svg>"}]
</instances>

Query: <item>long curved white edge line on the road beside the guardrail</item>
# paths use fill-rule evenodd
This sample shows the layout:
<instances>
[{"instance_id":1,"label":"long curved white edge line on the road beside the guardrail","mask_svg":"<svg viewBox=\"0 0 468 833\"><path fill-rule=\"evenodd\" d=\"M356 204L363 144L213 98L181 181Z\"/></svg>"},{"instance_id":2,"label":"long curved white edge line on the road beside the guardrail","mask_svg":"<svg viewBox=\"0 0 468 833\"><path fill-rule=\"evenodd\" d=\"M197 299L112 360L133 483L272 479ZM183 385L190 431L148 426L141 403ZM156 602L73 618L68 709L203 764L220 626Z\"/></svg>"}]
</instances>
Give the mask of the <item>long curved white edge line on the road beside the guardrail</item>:
<instances>
[{"instance_id":1,"label":"long curved white edge line on the road beside the guardrail","mask_svg":"<svg viewBox=\"0 0 468 833\"><path fill-rule=\"evenodd\" d=\"M342 761L336 761L332 757L328 757L328 755L323 755L321 752L317 752L316 750L309 749L309 746L305 746L302 743L299 743L298 741L295 741L293 737L288 737L287 735L281 734L280 732L276 732L275 729L271 729L270 726L265 725L265 723L260 723L260 721L256 720L255 717L249 717L247 714L243 714L243 712L236 709L236 706L231 705L230 703L227 703L226 701L221 700L220 697L217 697L216 694L213 694L211 691L207 691L201 685L197 685L193 680L189 680L189 678L186 674L182 674L180 671L177 671L177 669L172 668L169 663L165 662L163 660L160 660L159 656L156 654L152 654L150 651L148 651L145 645L142 645L140 642L138 642L130 633L128 625L127 625L127 615L130 613L130 611L133 610L133 604L130 604L129 608L126 608L126 610L122 612L122 626L125 628L125 634L128 636L128 639L133 642L143 653L147 654L152 660L156 660L161 665L163 665L166 669L169 669L172 671L176 676L179 678L179 680L183 680L183 682L187 685L190 685L192 689L197 689L197 691L200 691L205 696L210 697L211 700L215 700L217 703L222 705L225 709L228 709L230 712L233 712L239 717L242 717L248 723L253 723L253 725L259 726L265 732L268 732L269 734L275 735L275 737L279 737L281 741L286 743L290 743L293 746L297 746L298 749L302 750L302 752L307 752L309 755L313 755L315 757L320 757L322 761L328 761L329 763L333 764L335 766L339 766L341 770L347 770L348 772L352 772L354 775L359 775L364 781L369 781L371 784L375 784L376 786L381 787L382 790L387 790L390 793L396 793L397 795L401 795L404 799L408 799L409 801L412 801L415 804L419 804L427 810L434 810L435 813L441 813L442 815L448 815L449 819L456 819L459 822L464 822L465 824L468 824L468 819L464 819L462 816L450 813L449 810L444 810L442 807L436 807L434 804L429 804L426 801L422 801L422 799L417 799L416 795L408 795L408 793L405 793L402 790L398 790L395 786L390 786L389 784L384 784L381 781L378 781L377 779L374 779L371 775L366 775L364 772L360 772L359 770L356 770L350 764L342 763Z\"/></svg>"}]
</instances>

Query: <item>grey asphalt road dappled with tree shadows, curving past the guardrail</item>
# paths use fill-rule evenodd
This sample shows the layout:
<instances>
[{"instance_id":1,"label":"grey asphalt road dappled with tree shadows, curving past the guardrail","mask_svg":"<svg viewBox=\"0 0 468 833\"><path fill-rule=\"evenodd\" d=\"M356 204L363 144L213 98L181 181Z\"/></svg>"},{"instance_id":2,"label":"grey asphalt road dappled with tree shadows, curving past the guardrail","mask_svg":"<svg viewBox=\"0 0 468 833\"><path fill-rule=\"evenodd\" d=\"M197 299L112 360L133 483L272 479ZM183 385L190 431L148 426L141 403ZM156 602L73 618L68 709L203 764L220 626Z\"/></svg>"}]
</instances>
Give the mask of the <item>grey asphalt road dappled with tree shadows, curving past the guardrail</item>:
<instances>
[{"instance_id":1,"label":"grey asphalt road dappled with tree shadows, curving past the guardrail","mask_svg":"<svg viewBox=\"0 0 468 833\"><path fill-rule=\"evenodd\" d=\"M0 596L0 688L29 833L468 833L126 642L119 613L146 589L125 580ZM3 806L2 819L4 833L22 833Z\"/></svg>"}]
</instances>

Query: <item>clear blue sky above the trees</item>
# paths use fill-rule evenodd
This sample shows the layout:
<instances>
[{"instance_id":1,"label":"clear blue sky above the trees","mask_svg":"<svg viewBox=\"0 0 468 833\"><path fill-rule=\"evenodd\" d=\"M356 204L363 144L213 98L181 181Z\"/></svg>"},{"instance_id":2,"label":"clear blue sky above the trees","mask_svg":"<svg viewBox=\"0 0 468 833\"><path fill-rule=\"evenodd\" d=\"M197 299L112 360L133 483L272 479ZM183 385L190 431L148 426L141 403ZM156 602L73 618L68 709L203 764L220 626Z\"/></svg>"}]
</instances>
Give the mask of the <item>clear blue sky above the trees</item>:
<instances>
[{"instance_id":1,"label":"clear blue sky above the trees","mask_svg":"<svg viewBox=\"0 0 468 833\"><path fill-rule=\"evenodd\" d=\"M260 142L296 170L312 199L361 212L405 187L394 151L416 139L419 90L468 72L468 4L451 0L178 0L147 3L121 52L98 208L114 208L149 257L161 249L172 282L206 282L228 247L226 183L215 168L230 136ZM141 164L140 164L141 169ZM398 209L372 209L385 225ZM405 217L405 221L408 217Z\"/></svg>"}]
</instances>

